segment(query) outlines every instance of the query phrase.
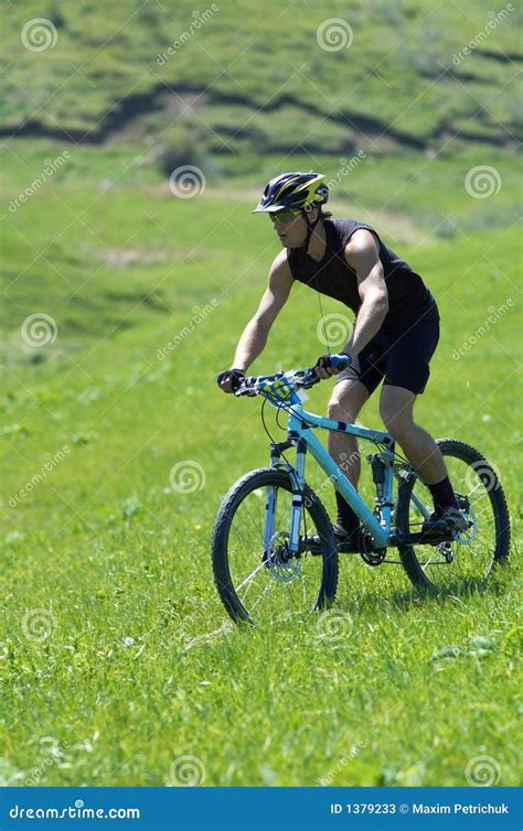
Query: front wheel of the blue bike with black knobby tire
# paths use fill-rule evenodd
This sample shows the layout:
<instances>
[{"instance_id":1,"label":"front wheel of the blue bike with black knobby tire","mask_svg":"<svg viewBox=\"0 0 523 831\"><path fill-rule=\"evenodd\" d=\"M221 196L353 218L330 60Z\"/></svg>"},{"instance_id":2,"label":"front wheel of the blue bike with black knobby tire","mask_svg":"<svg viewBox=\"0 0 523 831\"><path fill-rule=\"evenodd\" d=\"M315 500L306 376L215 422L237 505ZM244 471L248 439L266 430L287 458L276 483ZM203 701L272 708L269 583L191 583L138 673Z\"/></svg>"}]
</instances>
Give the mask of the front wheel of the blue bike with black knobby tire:
<instances>
[{"instance_id":1,"label":"front wheel of the blue bike with black knobby tire","mask_svg":"<svg viewBox=\"0 0 523 831\"><path fill-rule=\"evenodd\" d=\"M292 553L291 505L291 475L274 467L247 474L223 499L213 530L213 572L235 622L270 624L334 598L338 551L327 511L306 486L300 551ZM316 547L308 542L314 536Z\"/></svg>"}]
</instances>

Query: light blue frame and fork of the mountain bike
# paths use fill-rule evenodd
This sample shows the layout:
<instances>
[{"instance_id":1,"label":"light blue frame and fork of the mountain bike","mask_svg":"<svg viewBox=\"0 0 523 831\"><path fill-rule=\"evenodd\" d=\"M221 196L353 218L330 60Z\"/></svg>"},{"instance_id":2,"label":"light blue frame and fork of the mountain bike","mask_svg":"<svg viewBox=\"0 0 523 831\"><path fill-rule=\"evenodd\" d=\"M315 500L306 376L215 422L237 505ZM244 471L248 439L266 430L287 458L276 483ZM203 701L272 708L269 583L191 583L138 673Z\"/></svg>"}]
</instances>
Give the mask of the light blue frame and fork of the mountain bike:
<instances>
[{"instance_id":1,"label":"light blue frame and fork of the mountain bike","mask_svg":"<svg viewBox=\"0 0 523 831\"><path fill-rule=\"evenodd\" d=\"M262 393L264 395L264 393ZM281 407L281 401L278 404L271 399L269 395L265 396L274 406ZM291 507L291 522L288 547L293 553L299 551L299 529L301 525L301 511L303 509L303 488L305 488L305 463L307 451L309 450L311 455L316 458L322 471L327 474L332 482L335 489L343 496L351 508L354 510L362 525L372 535L375 543L375 548L386 548L389 542L391 536L391 514L392 514L392 495L393 495L393 478L394 478L394 439L387 432L378 430L369 430L364 427L357 427L356 424L350 424L344 421L334 421L332 419L324 419L319 415L314 415L303 409L301 403L284 404L282 409L286 409L289 418L287 424L288 443L296 445L297 458L296 466L291 467L286 465L292 476L292 507ZM365 439L372 442L380 442L385 445L385 450L381 455L385 461L384 483L383 483L383 500L381 507L381 520L373 514L367 505L363 501L355 487L349 482L345 474L337 465L332 456L323 447L320 440L313 434L311 428L320 430L329 430L338 433L344 433L345 435L354 435L359 439ZM287 444L287 446L289 446ZM271 465L281 465L280 451L278 445L273 445ZM264 529L264 549L267 551L270 548L270 542L274 537L274 520L276 511L276 495L273 488L267 498L266 516L265 516L265 529Z\"/></svg>"}]
</instances>

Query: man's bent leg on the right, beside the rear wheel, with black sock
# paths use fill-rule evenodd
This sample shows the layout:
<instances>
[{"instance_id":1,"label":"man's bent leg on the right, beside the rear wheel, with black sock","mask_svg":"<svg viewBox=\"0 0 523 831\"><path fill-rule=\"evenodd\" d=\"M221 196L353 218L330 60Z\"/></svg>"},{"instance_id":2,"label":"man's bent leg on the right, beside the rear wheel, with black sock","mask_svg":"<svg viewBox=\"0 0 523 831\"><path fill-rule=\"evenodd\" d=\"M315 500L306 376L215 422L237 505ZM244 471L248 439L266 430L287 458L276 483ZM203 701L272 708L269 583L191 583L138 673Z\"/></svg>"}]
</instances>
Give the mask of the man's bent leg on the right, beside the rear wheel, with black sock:
<instances>
[{"instance_id":1,"label":"man's bent leg on the right, beside the rear wheel, with black sock","mask_svg":"<svg viewBox=\"0 0 523 831\"><path fill-rule=\"evenodd\" d=\"M391 435L401 444L405 455L423 478L434 499L435 519L449 509L452 521L459 526L458 501L450 484L444 457L433 436L416 424L413 417L416 396L403 387L384 385L380 413ZM465 522L465 526L467 524ZM439 530L439 529L435 529Z\"/></svg>"}]
</instances>

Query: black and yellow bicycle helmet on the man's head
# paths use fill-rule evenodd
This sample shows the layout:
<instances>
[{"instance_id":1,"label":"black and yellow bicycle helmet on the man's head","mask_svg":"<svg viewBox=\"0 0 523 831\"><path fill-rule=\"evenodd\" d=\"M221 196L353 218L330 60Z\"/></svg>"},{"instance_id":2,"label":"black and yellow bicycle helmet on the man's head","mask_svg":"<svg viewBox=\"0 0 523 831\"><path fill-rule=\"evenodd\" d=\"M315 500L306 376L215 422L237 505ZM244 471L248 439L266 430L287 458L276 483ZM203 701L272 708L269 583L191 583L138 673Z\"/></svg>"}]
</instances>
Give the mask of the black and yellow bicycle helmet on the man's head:
<instances>
[{"instance_id":1,"label":"black and yellow bicycle helmet on the man's head","mask_svg":"<svg viewBox=\"0 0 523 831\"><path fill-rule=\"evenodd\" d=\"M253 214L271 211L305 211L320 207L329 198L322 173L281 173L265 185L264 195ZM320 184L321 183L321 184Z\"/></svg>"}]
</instances>

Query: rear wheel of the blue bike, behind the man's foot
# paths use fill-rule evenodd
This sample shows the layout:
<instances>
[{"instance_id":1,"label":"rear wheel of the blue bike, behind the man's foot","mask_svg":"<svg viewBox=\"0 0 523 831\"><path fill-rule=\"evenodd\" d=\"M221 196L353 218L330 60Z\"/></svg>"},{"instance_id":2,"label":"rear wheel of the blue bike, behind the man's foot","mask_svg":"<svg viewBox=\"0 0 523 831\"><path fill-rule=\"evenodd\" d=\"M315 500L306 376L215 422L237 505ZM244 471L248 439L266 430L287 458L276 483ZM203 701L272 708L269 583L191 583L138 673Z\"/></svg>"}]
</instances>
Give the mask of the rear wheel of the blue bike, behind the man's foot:
<instances>
[{"instance_id":1,"label":"rear wheel of the blue bike, behind the man's foot","mask_svg":"<svg viewBox=\"0 0 523 831\"><path fill-rule=\"evenodd\" d=\"M403 565L415 585L459 590L488 576L506 560L510 516L495 471L474 447L455 439L437 442L460 507L470 522L451 542L399 547ZM428 488L412 472L399 481L396 526L401 535L421 530L431 510Z\"/></svg>"}]
</instances>

